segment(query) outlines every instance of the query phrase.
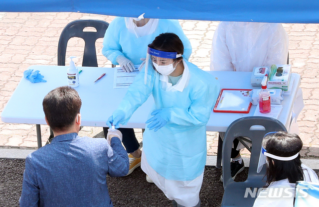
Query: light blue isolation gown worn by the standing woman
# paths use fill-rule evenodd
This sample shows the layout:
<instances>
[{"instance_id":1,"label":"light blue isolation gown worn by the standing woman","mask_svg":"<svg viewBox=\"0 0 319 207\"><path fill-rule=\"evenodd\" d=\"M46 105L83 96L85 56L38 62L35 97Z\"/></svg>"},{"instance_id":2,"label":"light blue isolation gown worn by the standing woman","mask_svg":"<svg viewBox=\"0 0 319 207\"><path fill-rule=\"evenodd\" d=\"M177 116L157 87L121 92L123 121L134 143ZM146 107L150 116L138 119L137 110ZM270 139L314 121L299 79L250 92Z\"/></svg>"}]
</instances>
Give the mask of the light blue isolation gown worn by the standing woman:
<instances>
[{"instance_id":1,"label":"light blue isolation gown worn by the standing woman","mask_svg":"<svg viewBox=\"0 0 319 207\"><path fill-rule=\"evenodd\" d=\"M159 74L154 83L146 85L144 67L113 113L113 117L125 114L120 122L125 125L134 111L153 95L152 111L167 111L169 120L156 132L145 129L143 153L160 176L175 181L191 181L204 172L206 124L220 88L212 75L188 61L183 61L183 65L182 77L174 86L166 82L167 76Z\"/></svg>"}]
</instances>

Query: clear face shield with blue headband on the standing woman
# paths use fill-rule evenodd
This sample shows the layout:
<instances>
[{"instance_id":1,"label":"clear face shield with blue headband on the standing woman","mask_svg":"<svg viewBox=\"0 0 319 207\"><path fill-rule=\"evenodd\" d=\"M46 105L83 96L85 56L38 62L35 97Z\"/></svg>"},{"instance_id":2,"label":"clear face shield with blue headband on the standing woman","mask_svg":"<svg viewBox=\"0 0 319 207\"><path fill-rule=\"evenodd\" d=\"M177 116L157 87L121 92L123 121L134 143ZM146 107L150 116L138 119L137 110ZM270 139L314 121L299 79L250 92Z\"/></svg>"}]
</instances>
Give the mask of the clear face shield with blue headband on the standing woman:
<instances>
[{"instance_id":1,"label":"clear face shield with blue headband on the standing woman","mask_svg":"<svg viewBox=\"0 0 319 207\"><path fill-rule=\"evenodd\" d=\"M160 74L163 76L171 74L177 66L176 58L178 57L181 57L181 54L177 54L177 52L163 52L148 47L145 63L145 84L153 86L154 80Z\"/></svg>"}]
</instances>

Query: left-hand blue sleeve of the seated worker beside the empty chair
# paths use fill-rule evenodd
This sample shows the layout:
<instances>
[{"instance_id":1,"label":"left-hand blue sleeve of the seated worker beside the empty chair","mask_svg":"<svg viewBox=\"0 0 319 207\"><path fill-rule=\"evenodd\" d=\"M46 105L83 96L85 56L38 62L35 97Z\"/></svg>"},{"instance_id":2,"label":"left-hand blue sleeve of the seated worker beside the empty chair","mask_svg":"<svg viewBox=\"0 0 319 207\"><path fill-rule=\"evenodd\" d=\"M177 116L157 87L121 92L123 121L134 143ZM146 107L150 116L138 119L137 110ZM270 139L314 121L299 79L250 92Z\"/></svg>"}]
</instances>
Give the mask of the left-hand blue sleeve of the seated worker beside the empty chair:
<instances>
[{"instance_id":1,"label":"left-hand blue sleeve of the seated worker beside the empty chair","mask_svg":"<svg viewBox=\"0 0 319 207\"><path fill-rule=\"evenodd\" d=\"M114 20L113 20L114 21ZM122 53L122 46L120 44L120 32L121 29L117 25L117 22L111 22L107 28L103 38L102 54L112 62L113 65L119 65L116 58L119 55L125 55Z\"/></svg>"}]
</instances>

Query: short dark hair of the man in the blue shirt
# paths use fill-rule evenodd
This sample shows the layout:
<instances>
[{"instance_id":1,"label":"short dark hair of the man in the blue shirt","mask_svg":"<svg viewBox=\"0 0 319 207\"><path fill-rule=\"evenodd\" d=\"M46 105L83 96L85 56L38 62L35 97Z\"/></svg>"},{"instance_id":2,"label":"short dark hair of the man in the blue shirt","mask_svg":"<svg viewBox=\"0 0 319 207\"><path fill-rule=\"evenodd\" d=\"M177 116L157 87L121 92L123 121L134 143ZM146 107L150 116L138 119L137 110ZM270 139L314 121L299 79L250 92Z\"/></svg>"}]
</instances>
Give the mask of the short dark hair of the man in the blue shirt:
<instances>
[{"instance_id":1,"label":"short dark hair of the man in the blue shirt","mask_svg":"<svg viewBox=\"0 0 319 207\"><path fill-rule=\"evenodd\" d=\"M77 91L68 86L50 91L43 99L43 111L52 130L67 130L80 112L82 101Z\"/></svg>"}]
</instances>

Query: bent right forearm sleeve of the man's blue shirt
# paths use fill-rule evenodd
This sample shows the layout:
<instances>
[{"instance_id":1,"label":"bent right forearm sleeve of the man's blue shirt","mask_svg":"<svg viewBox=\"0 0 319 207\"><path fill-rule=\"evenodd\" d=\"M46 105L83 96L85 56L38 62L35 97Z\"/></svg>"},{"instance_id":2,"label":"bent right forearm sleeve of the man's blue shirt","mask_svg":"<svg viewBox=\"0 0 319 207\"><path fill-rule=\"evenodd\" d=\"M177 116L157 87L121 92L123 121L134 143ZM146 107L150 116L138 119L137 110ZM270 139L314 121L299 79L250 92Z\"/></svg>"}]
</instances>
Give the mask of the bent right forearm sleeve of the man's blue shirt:
<instances>
[{"instance_id":1,"label":"bent right forearm sleeve of the man's blue shirt","mask_svg":"<svg viewBox=\"0 0 319 207\"><path fill-rule=\"evenodd\" d=\"M118 137L112 137L113 156L108 158L108 173L111 177L122 177L129 173L129 157Z\"/></svg>"}]
</instances>

